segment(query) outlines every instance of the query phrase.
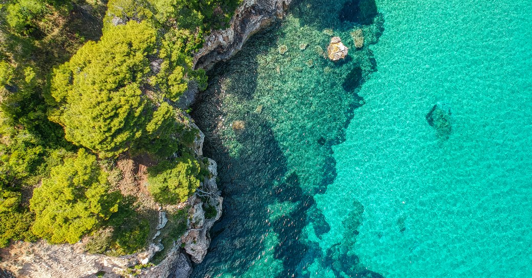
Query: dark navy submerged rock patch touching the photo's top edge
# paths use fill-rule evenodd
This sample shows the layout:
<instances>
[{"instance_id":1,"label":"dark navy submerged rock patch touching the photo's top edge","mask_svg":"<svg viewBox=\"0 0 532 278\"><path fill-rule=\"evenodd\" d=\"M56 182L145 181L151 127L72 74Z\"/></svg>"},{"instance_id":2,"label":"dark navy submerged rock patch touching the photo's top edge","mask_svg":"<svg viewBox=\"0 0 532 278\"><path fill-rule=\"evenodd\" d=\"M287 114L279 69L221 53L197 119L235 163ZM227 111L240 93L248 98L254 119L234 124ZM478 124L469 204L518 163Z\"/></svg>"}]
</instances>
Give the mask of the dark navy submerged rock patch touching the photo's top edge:
<instances>
[{"instance_id":1,"label":"dark navy submerged rock patch touching the photo's top edge","mask_svg":"<svg viewBox=\"0 0 532 278\"><path fill-rule=\"evenodd\" d=\"M339 14L340 21L351 21L362 25L371 24L378 14L375 0L352 0L345 2Z\"/></svg>"}]
</instances>

